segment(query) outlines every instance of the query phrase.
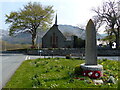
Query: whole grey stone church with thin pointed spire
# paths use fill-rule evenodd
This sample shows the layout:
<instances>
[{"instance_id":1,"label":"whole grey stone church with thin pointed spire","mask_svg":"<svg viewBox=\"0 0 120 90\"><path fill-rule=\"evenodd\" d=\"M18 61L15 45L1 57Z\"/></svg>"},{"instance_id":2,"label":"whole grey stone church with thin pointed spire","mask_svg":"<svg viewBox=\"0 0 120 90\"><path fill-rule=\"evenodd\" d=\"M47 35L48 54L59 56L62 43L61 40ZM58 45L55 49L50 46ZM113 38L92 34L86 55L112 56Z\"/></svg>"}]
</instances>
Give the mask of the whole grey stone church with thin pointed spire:
<instances>
[{"instance_id":1,"label":"whole grey stone church with thin pointed spire","mask_svg":"<svg viewBox=\"0 0 120 90\"><path fill-rule=\"evenodd\" d=\"M42 37L43 48L72 48L72 39L67 39L63 33L59 30L57 25L57 15L55 18L55 24L45 33Z\"/></svg>"}]
</instances>

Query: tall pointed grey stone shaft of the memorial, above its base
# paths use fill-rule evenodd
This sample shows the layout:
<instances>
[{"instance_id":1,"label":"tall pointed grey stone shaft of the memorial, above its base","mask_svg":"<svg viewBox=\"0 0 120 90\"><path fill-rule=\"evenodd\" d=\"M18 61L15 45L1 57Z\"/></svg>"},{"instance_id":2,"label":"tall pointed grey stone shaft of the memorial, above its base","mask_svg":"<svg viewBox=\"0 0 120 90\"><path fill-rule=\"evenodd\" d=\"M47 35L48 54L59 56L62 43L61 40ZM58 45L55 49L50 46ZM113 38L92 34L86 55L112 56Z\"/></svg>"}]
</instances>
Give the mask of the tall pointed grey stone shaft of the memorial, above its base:
<instances>
[{"instance_id":1,"label":"tall pointed grey stone shaft of the memorial, above its base","mask_svg":"<svg viewBox=\"0 0 120 90\"><path fill-rule=\"evenodd\" d=\"M97 65L96 29L90 19L86 26L85 65Z\"/></svg>"}]
</instances>

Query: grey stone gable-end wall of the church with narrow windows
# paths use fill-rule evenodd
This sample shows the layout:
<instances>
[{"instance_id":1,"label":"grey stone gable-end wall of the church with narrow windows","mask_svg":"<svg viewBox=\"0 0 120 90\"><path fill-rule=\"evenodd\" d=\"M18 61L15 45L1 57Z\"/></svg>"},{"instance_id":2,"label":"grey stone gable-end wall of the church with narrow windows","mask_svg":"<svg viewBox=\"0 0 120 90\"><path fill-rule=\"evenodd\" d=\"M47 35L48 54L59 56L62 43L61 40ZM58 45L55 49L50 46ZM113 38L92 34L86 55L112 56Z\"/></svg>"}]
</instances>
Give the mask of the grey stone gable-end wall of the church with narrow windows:
<instances>
[{"instance_id":1,"label":"grey stone gable-end wall of the church with narrow windows","mask_svg":"<svg viewBox=\"0 0 120 90\"><path fill-rule=\"evenodd\" d=\"M58 48L64 47L66 38L58 29L58 26L53 25L50 30L43 36L43 47Z\"/></svg>"}]
</instances>

